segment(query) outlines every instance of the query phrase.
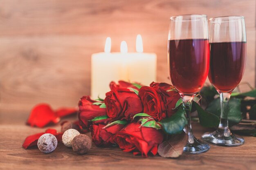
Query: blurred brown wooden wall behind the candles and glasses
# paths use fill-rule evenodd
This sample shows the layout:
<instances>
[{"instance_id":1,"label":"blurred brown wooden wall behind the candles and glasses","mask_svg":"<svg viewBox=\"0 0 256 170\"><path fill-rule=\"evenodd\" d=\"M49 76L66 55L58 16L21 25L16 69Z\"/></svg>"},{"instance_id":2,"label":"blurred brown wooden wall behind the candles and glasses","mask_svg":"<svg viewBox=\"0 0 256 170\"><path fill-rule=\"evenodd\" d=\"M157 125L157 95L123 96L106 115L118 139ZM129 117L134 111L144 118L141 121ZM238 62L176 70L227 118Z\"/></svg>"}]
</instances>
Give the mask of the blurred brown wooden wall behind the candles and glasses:
<instances>
[{"instance_id":1,"label":"blurred brown wooden wall behind the candles and glasses","mask_svg":"<svg viewBox=\"0 0 256 170\"><path fill-rule=\"evenodd\" d=\"M107 36L112 51L122 40L135 51L140 33L144 51L157 53L157 80L170 83L169 17L187 13L245 16L243 81L255 86L255 8L256 0L0 0L0 111L27 113L39 102L76 106L90 94L90 57Z\"/></svg>"}]
</instances>

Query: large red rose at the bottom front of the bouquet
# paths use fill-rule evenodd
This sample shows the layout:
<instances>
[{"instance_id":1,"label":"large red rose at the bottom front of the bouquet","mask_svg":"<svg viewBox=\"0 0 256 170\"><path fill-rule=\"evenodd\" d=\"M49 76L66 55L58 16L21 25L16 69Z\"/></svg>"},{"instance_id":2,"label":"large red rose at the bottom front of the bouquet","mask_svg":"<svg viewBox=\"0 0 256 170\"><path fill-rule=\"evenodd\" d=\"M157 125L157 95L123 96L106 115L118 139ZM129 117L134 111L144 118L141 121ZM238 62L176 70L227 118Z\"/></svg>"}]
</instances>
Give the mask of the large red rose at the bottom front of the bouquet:
<instances>
[{"instance_id":1,"label":"large red rose at the bottom front of the bouquet","mask_svg":"<svg viewBox=\"0 0 256 170\"><path fill-rule=\"evenodd\" d=\"M142 156L147 157L148 152L157 154L157 147L163 141L161 130L141 126L140 123L130 123L125 128L117 132L114 141L124 152L141 152Z\"/></svg>"}]
</instances>

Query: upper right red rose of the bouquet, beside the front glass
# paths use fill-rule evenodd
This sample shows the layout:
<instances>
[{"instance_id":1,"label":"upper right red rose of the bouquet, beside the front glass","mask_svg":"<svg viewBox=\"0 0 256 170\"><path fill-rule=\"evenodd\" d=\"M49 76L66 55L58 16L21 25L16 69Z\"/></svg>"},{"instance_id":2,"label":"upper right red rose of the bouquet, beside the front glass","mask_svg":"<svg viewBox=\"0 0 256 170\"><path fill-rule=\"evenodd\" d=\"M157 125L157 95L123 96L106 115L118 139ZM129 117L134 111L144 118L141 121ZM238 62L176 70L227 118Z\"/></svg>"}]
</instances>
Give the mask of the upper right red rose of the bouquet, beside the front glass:
<instances>
[{"instance_id":1,"label":"upper right red rose of the bouquet, beside the front glass","mask_svg":"<svg viewBox=\"0 0 256 170\"><path fill-rule=\"evenodd\" d=\"M180 99L180 94L170 84L153 82L150 87L143 86L139 89L139 97L144 106L144 113L161 121L175 113L173 108Z\"/></svg>"}]
</instances>

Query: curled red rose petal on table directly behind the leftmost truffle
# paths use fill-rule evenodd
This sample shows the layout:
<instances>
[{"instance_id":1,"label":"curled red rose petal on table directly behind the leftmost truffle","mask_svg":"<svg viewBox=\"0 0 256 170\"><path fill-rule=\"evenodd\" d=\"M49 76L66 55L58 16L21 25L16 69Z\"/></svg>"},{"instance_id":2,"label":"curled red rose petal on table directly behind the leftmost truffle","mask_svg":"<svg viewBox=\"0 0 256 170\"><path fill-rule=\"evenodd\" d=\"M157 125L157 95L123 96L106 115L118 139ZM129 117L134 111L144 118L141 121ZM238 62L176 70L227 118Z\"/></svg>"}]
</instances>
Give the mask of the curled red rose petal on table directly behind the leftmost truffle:
<instances>
[{"instance_id":1,"label":"curled red rose petal on table directly behind the leftmost truffle","mask_svg":"<svg viewBox=\"0 0 256 170\"><path fill-rule=\"evenodd\" d=\"M45 132L36 133L34 135L30 135L30 136L26 137L24 143L22 144L22 147L24 149L27 149L31 146L36 146L39 137L45 133L50 133L50 134L54 135L58 141L62 140L63 133L58 133L55 129L47 129L47 130L45 130Z\"/></svg>"}]
</instances>

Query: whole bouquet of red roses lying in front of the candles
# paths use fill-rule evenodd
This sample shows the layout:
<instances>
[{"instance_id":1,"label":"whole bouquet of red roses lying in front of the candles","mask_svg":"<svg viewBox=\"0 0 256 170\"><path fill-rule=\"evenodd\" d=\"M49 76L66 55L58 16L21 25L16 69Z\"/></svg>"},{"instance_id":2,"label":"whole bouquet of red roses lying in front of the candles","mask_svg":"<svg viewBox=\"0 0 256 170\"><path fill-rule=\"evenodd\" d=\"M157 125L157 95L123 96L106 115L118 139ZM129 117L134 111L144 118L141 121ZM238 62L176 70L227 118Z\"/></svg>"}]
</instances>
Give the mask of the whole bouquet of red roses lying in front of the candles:
<instances>
[{"instance_id":1,"label":"whole bouquet of red roses lying in front of the candles","mask_svg":"<svg viewBox=\"0 0 256 170\"><path fill-rule=\"evenodd\" d=\"M118 145L125 152L157 154L159 144L164 140L164 131L175 126L175 134L186 124L180 94L166 83L152 82L141 86L119 81L110 83L106 98L93 100L83 96L79 101L79 124L91 130L96 146ZM178 111L180 110L180 111ZM174 116L175 115L175 116ZM178 117L178 118L176 118ZM179 119L179 124L171 122ZM178 123L179 123L178 122Z\"/></svg>"}]
</instances>

